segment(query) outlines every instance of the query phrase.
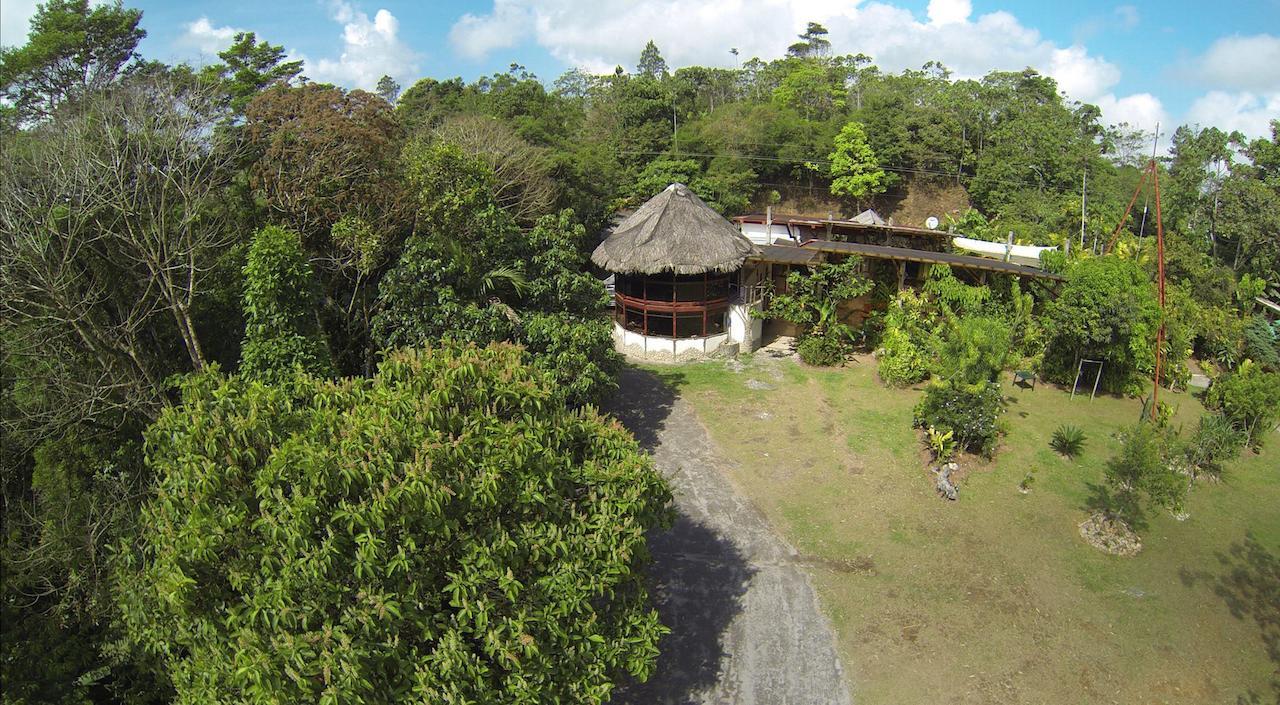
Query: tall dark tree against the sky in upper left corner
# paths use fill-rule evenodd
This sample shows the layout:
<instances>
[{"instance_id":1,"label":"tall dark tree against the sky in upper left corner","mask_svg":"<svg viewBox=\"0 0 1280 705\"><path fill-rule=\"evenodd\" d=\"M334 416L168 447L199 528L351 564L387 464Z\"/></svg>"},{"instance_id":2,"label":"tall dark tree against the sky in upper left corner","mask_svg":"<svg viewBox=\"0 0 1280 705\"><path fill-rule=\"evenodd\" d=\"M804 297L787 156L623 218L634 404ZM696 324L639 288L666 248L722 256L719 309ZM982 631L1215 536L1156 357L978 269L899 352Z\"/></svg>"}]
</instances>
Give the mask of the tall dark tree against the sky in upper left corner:
<instances>
[{"instance_id":1,"label":"tall dark tree against the sky in upper left corner","mask_svg":"<svg viewBox=\"0 0 1280 705\"><path fill-rule=\"evenodd\" d=\"M17 12L17 10L13 10ZM147 33L142 10L116 0L49 0L36 6L31 33L20 47L0 47L0 99L19 123L49 118L68 100L114 82Z\"/></svg>"}]
</instances>

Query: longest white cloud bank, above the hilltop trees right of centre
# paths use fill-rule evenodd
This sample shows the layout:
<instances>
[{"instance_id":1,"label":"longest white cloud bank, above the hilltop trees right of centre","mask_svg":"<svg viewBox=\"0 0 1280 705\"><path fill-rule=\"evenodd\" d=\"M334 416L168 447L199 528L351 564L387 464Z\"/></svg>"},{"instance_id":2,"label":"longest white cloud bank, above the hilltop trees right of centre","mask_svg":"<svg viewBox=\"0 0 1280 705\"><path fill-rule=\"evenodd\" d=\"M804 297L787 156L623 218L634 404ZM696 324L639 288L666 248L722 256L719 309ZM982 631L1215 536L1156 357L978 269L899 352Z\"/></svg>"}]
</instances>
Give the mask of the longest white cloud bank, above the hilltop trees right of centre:
<instances>
[{"instance_id":1,"label":"longest white cloud bank, above the hilltop trees right of centre","mask_svg":"<svg viewBox=\"0 0 1280 705\"><path fill-rule=\"evenodd\" d=\"M1132 6L1115 13L1126 24L1137 22ZM1059 46L1009 13L973 17L970 0L931 0L925 14L878 0L494 0L492 13L463 15L449 38L470 59L532 40L556 59L593 72L634 67L652 38L672 67L728 67L730 47L744 60L781 56L813 20L831 31L837 52L869 54L882 69L919 68L936 59L959 78L977 78L1034 67L1069 97L1100 104L1106 122L1164 115L1148 93L1114 93L1120 81L1115 64L1080 45Z\"/></svg>"}]
</instances>

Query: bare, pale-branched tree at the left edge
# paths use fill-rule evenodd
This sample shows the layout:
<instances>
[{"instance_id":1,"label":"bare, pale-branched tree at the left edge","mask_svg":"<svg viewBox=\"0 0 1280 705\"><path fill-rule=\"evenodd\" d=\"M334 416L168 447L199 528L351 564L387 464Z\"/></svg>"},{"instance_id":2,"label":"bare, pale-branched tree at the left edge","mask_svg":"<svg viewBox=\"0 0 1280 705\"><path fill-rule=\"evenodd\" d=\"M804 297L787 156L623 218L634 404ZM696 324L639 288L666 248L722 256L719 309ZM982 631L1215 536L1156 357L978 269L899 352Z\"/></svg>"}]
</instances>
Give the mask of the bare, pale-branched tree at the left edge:
<instances>
[{"instance_id":1,"label":"bare, pale-branched tree at the left edge","mask_svg":"<svg viewBox=\"0 0 1280 705\"><path fill-rule=\"evenodd\" d=\"M52 356L56 366L96 371L64 370L61 392L86 397L47 411L111 408L102 394L125 407L156 399L174 334L189 366L204 366L195 308L232 241L221 198L238 147L215 129L224 116L210 91L145 77L86 99L10 154L0 171L4 319L40 357L61 342L72 349Z\"/></svg>"}]
</instances>

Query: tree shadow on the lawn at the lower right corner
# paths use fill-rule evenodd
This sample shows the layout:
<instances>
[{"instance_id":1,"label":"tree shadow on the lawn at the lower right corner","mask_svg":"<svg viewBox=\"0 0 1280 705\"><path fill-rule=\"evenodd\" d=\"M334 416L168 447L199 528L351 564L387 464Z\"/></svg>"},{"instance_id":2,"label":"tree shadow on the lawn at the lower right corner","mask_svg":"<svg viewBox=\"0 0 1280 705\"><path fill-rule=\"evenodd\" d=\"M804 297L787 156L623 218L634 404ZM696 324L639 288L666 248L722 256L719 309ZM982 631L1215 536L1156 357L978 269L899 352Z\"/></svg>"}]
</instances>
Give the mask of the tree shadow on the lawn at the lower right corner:
<instances>
[{"instance_id":1,"label":"tree shadow on the lawn at the lower right corner","mask_svg":"<svg viewBox=\"0 0 1280 705\"><path fill-rule=\"evenodd\" d=\"M1257 623L1267 658L1275 664L1271 695L1280 705L1280 555L1263 546L1249 532L1243 541L1236 541L1225 553L1219 553L1217 560L1222 567L1221 574L1183 568L1179 576L1188 587L1197 583L1212 586L1213 594L1226 603L1233 617ZM1251 690L1239 696L1236 702L1261 704L1262 693Z\"/></svg>"}]
</instances>

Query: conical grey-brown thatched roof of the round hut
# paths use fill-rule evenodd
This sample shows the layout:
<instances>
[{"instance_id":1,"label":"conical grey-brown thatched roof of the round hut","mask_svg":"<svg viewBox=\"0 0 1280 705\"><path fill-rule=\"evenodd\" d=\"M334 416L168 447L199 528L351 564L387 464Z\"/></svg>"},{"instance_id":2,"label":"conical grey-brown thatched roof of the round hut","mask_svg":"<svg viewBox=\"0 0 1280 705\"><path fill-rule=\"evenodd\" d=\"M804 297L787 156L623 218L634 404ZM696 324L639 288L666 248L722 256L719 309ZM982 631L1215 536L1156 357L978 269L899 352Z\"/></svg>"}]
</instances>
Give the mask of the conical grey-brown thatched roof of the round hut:
<instances>
[{"instance_id":1,"label":"conical grey-brown thatched roof of the round hut","mask_svg":"<svg viewBox=\"0 0 1280 705\"><path fill-rule=\"evenodd\" d=\"M621 274L733 271L751 241L685 184L673 183L613 229L591 261Z\"/></svg>"}]
</instances>

